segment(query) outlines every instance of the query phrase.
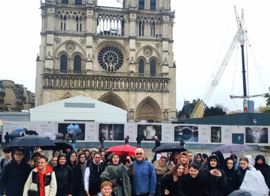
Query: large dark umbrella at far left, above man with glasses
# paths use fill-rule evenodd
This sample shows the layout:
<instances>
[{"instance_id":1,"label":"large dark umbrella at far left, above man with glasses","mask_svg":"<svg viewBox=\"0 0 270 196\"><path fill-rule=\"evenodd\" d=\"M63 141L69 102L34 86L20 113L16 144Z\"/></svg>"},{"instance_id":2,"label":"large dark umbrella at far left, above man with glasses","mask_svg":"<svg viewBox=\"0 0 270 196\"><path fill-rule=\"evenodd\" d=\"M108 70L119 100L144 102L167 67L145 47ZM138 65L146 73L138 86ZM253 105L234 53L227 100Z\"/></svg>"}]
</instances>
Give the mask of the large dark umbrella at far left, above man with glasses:
<instances>
[{"instance_id":1,"label":"large dark umbrella at far left, above man with glasses","mask_svg":"<svg viewBox=\"0 0 270 196\"><path fill-rule=\"evenodd\" d=\"M25 137L19 137L14 138L11 140L10 143L8 143L7 146L35 146L35 147L41 147L41 146L55 146L54 142L51 141L49 138L36 136L36 135L29 135Z\"/></svg>"}]
</instances>

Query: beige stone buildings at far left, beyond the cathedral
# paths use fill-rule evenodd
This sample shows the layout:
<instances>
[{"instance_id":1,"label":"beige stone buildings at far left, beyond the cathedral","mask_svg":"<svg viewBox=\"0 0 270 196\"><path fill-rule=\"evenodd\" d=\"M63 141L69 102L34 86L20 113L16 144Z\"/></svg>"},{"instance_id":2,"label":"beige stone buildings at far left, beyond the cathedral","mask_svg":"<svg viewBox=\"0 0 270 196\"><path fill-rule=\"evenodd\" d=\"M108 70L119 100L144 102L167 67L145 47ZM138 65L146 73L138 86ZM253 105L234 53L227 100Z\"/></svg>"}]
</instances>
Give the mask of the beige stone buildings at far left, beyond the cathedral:
<instances>
[{"instance_id":1,"label":"beige stone buildings at far left, beyond the cathedral","mask_svg":"<svg viewBox=\"0 0 270 196\"><path fill-rule=\"evenodd\" d=\"M27 91L24 85L15 84L11 80L1 80L0 82L4 88L3 112L21 112L34 107L35 96L30 91Z\"/></svg>"}]
</instances>

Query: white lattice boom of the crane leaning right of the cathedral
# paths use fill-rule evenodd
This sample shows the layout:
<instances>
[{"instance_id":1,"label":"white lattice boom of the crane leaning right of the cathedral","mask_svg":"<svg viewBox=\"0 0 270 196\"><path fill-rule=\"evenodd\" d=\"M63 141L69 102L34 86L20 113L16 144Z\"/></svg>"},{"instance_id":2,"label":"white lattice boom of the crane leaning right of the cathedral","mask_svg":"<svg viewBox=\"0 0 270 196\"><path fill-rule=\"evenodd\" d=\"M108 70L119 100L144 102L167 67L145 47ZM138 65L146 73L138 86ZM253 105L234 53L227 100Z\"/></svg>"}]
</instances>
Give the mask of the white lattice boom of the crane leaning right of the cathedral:
<instances>
[{"instance_id":1,"label":"white lattice boom of the crane leaning right of the cathedral","mask_svg":"<svg viewBox=\"0 0 270 196\"><path fill-rule=\"evenodd\" d=\"M205 89L204 94L202 96L202 100L200 102L197 102L196 107L195 107L195 111L196 112L192 112L191 113L191 117L193 116L193 118L202 118L203 114L204 114L204 110L207 106L207 103L209 101L209 99L211 98L214 90L216 89L216 86L233 54L233 51L237 45L238 42L240 42L241 47L244 44L244 28L243 28L243 9L242 9L242 15L241 15L241 19L238 16L236 7L234 6L234 10L235 10L235 14L236 14L236 21L237 21L237 26L238 26L238 31L236 32L230 46L229 49L227 50L218 70L216 71L216 73L213 75L212 77L212 81L210 82L210 85ZM244 82L245 85L245 82Z\"/></svg>"}]
</instances>

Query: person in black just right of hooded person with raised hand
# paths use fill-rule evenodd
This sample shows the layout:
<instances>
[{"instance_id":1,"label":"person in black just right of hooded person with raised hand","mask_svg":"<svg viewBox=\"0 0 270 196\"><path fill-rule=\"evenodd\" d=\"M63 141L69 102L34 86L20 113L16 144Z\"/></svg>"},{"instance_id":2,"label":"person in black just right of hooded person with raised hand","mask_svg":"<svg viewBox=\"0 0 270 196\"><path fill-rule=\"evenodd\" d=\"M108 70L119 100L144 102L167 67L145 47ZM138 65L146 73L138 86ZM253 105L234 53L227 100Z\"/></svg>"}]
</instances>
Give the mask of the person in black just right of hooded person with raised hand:
<instances>
[{"instance_id":1,"label":"person in black just right of hooded person with raised hand","mask_svg":"<svg viewBox=\"0 0 270 196\"><path fill-rule=\"evenodd\" d=\"M226 174L227 177L227 181L228 181L228 189L226 190L225 195L229 195L230 193L232 193L234 191L233 187L234 187L234 160L231 157L228 157L225 159L225 167L224 167L224 172Z\"/></svg>"}]
</instances>

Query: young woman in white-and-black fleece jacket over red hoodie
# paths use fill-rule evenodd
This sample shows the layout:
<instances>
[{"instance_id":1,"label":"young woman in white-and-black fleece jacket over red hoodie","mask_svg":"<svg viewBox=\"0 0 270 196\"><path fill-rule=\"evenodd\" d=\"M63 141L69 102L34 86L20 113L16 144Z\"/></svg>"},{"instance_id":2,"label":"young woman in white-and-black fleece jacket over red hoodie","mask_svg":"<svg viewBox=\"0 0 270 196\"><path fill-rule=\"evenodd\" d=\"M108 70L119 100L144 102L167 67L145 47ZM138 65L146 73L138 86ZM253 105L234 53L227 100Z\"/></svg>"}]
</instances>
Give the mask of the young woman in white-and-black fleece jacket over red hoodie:
<instances>
[{"instance_id":1,"label":"young woman in white-and-black fleece jacket over red hoodie","mask_svg":"<svg viewBox=\"0 0 270 196\"><path fill-rule=\"evenodd\" d=\"M38 196L55 196L56 190L53 168L48 165L48 158L42 156L38 160L38 167L29 174L23 196L31 196L31 192Z\"/></svg>"}]
</instances>

